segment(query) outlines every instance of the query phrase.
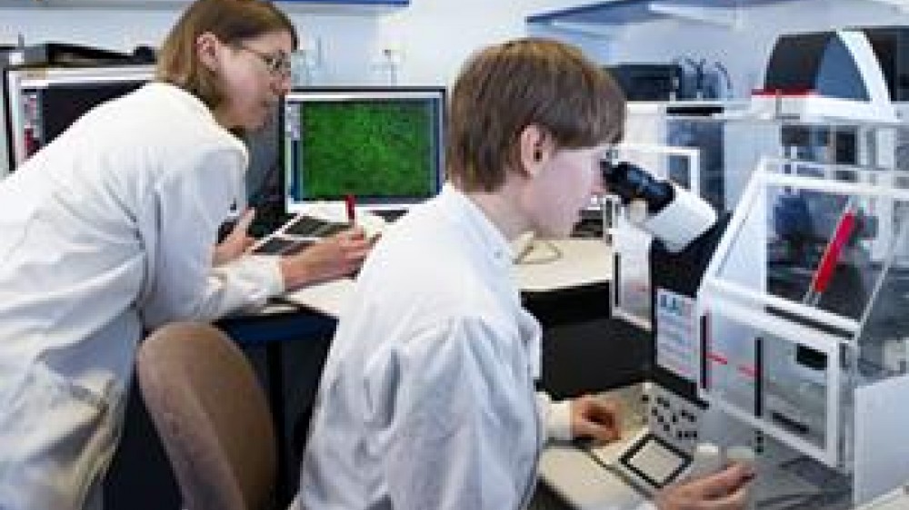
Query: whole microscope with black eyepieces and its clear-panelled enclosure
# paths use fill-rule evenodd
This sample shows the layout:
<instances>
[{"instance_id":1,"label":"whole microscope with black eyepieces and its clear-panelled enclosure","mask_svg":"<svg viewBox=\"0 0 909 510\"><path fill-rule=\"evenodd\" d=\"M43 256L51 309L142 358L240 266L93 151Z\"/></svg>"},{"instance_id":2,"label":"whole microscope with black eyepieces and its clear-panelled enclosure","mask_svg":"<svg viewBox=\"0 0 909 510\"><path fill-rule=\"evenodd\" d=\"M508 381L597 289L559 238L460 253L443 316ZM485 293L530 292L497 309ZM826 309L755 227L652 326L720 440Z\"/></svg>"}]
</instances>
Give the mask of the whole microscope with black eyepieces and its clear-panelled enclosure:
<instances>
[{"instance_id":1,"label":"whole microscope with black eyepieces and its clear-panelled enclosure","mask_svg":"<svg viewBox=\"0 0 909 510\"><path fill-rule=\"evenodd\" d=\"M764 160L734 213L717 214L634 164L602 164L626 224L653 235L653 352L637 403L643 427L620 447L586 450L608 474L615 508L634 508L633 494L654 495L732 459L754 463L757 508L855 508L909 480L909 446L898 432L909 423L901 404L909 370L882 365L887 357L877 352L897 345L878 337L902 317L892 303L906 300L909 275L898 262L909 260L909 228L884 243L874 239L879 229L866 228L877 221L855 213L894 203L884 211L901 211L894 221L909 225L909 193L874 173L819 164L820 172L793 175L789 165ZM793 189L842 211L833 221L829 208L805 211L829 228L814 233L822 248L814 265L791 273L772 251L776 197ZM844 257L850 243L874 242L892 264ZM632 260L621 258L621 246L614 251L613 285L621 289ZM865 271L867 285L843 280L847 265ZM837 285L852 289L845 295L853 306L830 299Z\"/></svg>"}]
</instances>

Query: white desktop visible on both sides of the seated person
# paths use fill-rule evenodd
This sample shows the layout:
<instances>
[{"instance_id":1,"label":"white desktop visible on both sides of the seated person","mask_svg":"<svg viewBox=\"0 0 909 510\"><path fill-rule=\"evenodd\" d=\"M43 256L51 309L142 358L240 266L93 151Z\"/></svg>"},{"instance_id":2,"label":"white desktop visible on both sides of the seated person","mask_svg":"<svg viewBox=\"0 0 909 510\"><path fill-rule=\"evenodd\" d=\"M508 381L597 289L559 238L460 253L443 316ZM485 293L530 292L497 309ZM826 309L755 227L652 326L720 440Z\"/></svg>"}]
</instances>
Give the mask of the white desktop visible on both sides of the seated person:
<instances>
[{"instance_id":1,"label":"white desktop visible on both sides of the seated person","mask_svg":"<svg viewBox=\"0 0 909 510\"><path fill-rule=\"evenodd\" d=\"M534 241L526 260L554 260L514 265L514 276L521 289L546 292L583 285L603 283L612 275L612 250L598 239L552 240L558 250L553 257L551 248ZM341 279L311 285L285 294L284 299L338 317L345 308L354 280Z\"/></svg>"}]
</instances>

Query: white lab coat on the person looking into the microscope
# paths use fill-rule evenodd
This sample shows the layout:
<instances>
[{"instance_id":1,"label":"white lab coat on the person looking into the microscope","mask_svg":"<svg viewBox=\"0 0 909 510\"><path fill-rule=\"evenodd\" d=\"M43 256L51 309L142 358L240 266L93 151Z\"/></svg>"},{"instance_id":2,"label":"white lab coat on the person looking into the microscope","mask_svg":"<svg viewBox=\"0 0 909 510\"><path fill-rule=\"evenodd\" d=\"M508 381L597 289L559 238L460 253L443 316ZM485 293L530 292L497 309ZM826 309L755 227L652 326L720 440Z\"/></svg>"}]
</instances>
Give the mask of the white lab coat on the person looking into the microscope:
<instances>
[{"instance_id":1,"label":"white lab coat on the person looking into the microscope","mask_svg":"<svg viewBox=\"0 0 909 510\"><path fill-rule=\"evenodd\" d=\"M534 393L540 326L512 252L453 187L386 230L326 362L295 505L505 510L568 403Z\"/></svg>"}]
</instances>

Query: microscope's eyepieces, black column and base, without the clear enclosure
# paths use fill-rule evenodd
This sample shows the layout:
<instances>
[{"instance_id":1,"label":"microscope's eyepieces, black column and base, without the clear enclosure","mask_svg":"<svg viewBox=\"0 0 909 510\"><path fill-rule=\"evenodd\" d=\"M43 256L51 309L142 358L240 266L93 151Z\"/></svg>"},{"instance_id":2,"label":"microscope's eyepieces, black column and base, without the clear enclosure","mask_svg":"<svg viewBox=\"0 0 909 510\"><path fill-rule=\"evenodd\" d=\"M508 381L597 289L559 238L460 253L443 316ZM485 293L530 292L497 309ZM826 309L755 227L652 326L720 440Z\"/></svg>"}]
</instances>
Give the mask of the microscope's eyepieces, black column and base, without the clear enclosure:
<instances>
[{"instance_id":1,"label":"microscope's eyepieces, black column and base, without the clear enclosure","mask_svg":"<svg viewBox=\"0 0 909 510\"><path fill-rule=\"evenodd\" d=\"M707 404L698 397L694 383L699 372L692 345L694 301L729 217L718 214L694 192L656 178L634 163L603 161L601 171L606 191L622 204L627 223L653 237L645 257L651 303L645 326L654 348L638 406L645 427L621 452L593 451L592 455L638 493L653 495L685 477L719 470L727 460L751 462L753 457L750 448L741 445L724 448L704 441L701 420ZM621 246L614 250L613 284L621 288L626 283L621 268L639 263L634 259L641 254L624 252ZM614 303L614 309L622 305ZM621 490L614 492L624 502L620 507L634 507L634 498Z\"/></svg>"}]
</instances>

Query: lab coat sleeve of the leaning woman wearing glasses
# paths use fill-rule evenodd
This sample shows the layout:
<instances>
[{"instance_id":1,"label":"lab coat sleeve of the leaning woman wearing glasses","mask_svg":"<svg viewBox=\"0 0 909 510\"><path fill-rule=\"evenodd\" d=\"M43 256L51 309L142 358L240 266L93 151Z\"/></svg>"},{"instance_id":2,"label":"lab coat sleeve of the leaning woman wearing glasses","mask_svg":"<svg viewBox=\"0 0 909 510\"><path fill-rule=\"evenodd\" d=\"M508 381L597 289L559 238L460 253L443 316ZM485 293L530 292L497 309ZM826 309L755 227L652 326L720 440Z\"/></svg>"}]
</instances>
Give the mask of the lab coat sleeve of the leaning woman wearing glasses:
<instances>
[{"instance_id":1,"label":"lab coat sleeve of the leaning woman wearing glasses","mask_svg":"<svg viewBox=\"0 0 909 510\"><path fill-rule=\"evenodd\" d=\"M156 182L145 214L145 326L213 320L261 305L283 289L277 259L245 257L212 267L218 226L241 189L245 154L221 147L176 160ZM141 229L140 229L141 230Z\"/></svg>"}]
</instances>

